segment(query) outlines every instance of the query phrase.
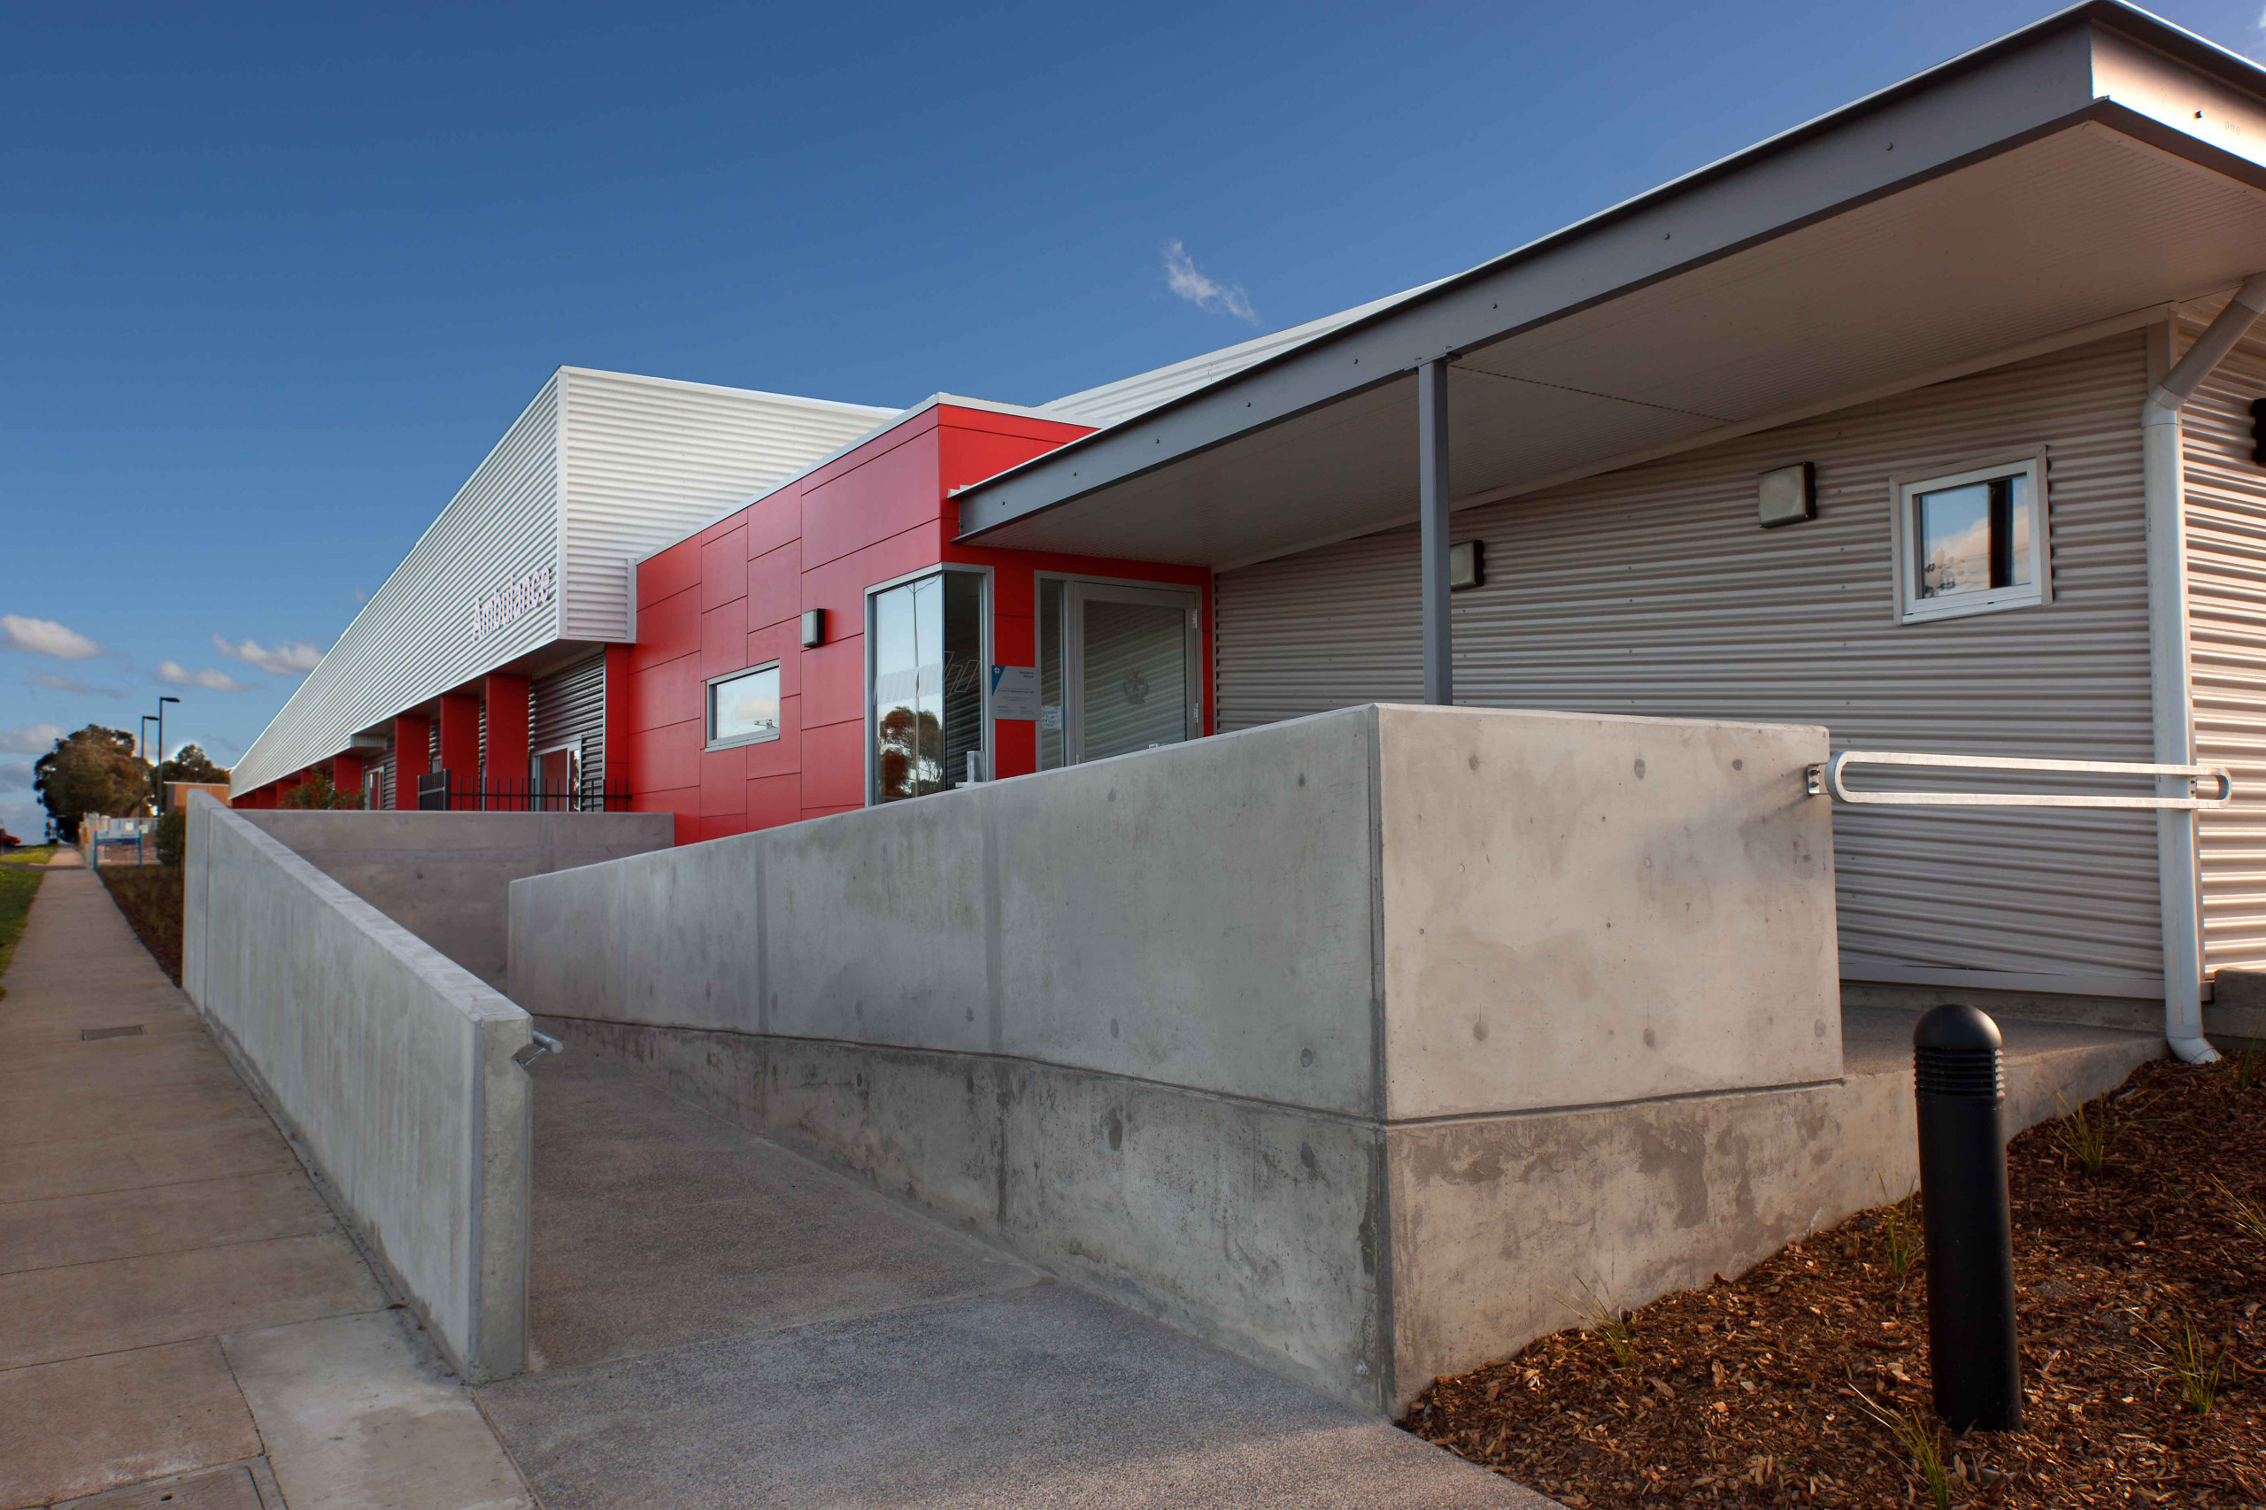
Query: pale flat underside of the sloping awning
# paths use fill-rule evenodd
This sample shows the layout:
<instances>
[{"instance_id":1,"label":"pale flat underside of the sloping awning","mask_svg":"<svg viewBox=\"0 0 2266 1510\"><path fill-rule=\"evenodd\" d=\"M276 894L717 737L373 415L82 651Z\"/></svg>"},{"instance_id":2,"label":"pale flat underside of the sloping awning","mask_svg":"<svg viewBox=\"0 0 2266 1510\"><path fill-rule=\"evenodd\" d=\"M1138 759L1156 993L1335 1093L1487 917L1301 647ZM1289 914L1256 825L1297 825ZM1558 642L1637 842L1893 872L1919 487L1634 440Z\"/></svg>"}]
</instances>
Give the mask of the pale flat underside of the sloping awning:
<instances>
[{"instance_id":1,"label":"pale flat underside of the sloping awning","mask_svg":"<svg viewBox=\"0 0 2266 1510\"><path fill-rule=\"evenodd\" d=\"M1462 506L1702 444L2261 265L2266 195L2078 125L1466 351L1450 381L1453 490ZM981 540L1264 560L1412 517L1414 431L1412 383L1394 381Z\"/></svg>"}]
</instances>

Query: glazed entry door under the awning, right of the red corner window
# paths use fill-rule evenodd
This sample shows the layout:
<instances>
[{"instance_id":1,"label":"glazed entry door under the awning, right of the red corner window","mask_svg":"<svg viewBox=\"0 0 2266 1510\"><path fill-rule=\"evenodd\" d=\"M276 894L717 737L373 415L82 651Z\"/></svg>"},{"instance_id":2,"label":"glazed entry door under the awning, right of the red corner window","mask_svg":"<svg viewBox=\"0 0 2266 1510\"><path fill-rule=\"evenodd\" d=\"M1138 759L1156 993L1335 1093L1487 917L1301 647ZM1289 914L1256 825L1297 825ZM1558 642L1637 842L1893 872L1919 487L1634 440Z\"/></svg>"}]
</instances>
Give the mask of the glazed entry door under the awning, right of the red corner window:
<instances>
[{"instance_id":1,"label":"glazed entry door under the awning, right of the red corner window","mask_svg":"<svg viewBox=\"0 0 2266 1510\"><path fill-rule=\"evenodd\" d=\"M1040 580L1040 769L1203 732L1196 594Z\"/></svg>"}]
</instances>

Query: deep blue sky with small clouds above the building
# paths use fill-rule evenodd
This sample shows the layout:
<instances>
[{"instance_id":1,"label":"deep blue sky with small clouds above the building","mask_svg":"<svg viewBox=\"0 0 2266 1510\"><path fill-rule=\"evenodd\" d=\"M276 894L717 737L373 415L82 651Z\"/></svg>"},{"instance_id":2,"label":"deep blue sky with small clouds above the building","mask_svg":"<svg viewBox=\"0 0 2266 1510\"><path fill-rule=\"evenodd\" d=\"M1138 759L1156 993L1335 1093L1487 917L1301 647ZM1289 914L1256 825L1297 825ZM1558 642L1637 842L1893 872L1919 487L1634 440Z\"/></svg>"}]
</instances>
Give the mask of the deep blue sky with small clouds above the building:
<instances>
[{"instance_id":1,"label":"deep blue sky with small clouds above the building","mask_svg":"<svg viewBox=\"0 0 2266 1510\"><path fill-rule=\"evenodd\" d=\"M2259 54L2259 5L2162 14ZM560 363L1036 404L2044 9L9 7L0 821L161 692L249 746Z\"/></svg>"}]
</instances>

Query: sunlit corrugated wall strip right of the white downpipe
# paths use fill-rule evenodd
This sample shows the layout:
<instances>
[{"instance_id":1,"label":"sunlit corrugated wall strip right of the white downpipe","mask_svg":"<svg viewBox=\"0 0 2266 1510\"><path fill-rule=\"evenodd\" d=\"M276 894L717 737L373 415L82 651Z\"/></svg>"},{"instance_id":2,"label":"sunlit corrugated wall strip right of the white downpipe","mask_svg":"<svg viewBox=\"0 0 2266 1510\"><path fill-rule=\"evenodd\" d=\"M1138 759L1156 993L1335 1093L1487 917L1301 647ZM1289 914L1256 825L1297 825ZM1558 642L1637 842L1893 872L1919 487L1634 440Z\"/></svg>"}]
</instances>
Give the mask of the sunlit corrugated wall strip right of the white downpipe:
<instances>
[{"instance_id":1,"label":"sunlit corrugated wall strip right of the white downpipe","mask_svg":"<svg viewBox=\"0 0 2266 1510\"><path fill-rule=\"evenodd\" d=\"M2180 329L2180 349L2203 333ZM2250 401L2266 342L2241 342L2187 404L2187 603L2196 757L2234 771L2198 816L2203 968L2266 968L2266 472Z\"/></svg>"}]
</instances>

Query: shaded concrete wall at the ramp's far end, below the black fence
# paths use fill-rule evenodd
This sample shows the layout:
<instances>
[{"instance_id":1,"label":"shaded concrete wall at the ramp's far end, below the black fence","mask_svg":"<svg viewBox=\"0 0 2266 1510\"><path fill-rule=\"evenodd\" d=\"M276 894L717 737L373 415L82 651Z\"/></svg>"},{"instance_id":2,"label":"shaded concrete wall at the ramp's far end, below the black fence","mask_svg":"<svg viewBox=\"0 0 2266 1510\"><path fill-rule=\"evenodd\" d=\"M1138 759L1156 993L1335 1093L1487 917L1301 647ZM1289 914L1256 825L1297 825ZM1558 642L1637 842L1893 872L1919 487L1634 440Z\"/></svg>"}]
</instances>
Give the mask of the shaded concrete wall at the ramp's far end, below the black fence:
<instances>
[{"instance_id":1,"label":"shaded concrete wall at the ramp's far end, below the black fence","mask_svg":"<svg viewBox=\"0 0 2266 1510\"><path fill-rule=\"evenodd\" d=\"M666 812L238 812L265 834L503 991L510 887L675 843Z\"/></svg>"}]
</instances>

